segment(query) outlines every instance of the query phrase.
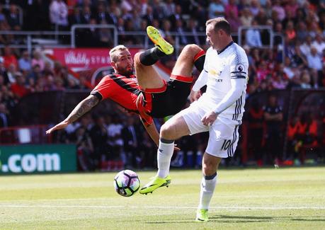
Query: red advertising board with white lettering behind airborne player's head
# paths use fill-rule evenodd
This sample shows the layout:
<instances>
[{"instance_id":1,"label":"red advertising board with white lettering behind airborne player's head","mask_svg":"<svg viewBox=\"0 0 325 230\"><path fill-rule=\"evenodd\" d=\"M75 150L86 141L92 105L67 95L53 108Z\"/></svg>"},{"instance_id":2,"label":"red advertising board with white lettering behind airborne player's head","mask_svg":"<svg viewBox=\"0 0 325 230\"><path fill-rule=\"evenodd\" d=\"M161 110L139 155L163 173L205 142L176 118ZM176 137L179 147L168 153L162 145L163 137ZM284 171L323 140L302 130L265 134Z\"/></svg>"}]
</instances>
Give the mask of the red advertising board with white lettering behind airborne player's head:
<instances>
[{"instance_id":1,"label":"red advertising board with white lettering behind airborne player's head","mask_svg":"<svg viewBox=\"0 0 325 230\"><path fill-rule=\"evenodd\" d=\"M130 49L132 57L139 49ZM69 68L93 69L110 66L109 49L53 49L53 56Z\"/></svg>"}]
</instances>

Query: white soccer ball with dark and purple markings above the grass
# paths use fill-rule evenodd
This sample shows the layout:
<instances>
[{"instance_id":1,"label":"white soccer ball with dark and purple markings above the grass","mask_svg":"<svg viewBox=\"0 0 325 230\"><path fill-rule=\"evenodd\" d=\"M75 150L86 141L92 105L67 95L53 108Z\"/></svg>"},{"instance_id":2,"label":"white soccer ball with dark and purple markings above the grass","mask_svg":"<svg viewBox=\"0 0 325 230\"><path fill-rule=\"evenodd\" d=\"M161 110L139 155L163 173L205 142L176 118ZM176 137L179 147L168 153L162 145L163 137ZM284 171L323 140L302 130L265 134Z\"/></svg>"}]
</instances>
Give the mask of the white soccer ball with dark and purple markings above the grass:
<instances>
[{"instance_id":1,"label":"white soccer ball with dark and purple markings above the grass","mask_svg":"<svg viewBox=\"0 0 325 230\"><path fill-rule=\"evenodd\" d=\"M130 197L140 188L140 180L137 173L131 170L123 170L114 178L114 187L118 194Z\"/></svg>"}]
</instances>

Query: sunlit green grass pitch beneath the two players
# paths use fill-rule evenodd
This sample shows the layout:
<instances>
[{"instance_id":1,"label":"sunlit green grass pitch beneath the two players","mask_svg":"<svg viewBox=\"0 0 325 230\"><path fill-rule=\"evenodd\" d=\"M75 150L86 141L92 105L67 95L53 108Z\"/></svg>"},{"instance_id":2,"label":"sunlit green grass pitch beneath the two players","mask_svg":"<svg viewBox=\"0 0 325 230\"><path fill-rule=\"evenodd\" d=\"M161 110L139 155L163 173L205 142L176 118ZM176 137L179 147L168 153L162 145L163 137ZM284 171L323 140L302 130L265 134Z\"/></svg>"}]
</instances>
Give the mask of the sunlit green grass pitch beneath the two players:
<instances>
[{"instance_id":1,"label":"sunlit green grass pitch beneath the two players","mask_svg":"<svg viewBox=\"0 0 325 230\"><path fill-rule=\"evenodd\" d=\"M142 184L154 172L137 172ZM121 197L115 173L0 177L0 229L325 229L325 167L220 170L210 222L194 222L201 173Z\"/></svg>"}]
</instances>

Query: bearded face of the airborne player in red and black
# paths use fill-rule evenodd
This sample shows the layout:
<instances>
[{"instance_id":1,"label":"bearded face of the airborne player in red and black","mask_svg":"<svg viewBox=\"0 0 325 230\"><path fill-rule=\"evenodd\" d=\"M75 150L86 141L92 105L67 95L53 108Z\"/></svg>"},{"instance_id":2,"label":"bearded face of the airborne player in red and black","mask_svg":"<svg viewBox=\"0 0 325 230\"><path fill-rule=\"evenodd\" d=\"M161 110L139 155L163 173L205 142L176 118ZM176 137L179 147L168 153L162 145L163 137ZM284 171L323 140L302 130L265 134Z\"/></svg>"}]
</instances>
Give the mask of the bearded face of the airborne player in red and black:
<instances>
[{"instance_id":1,"label":"bearded face of the airborne player in red and black","mask_svg":"<svg viewBox=\"0 0 325 230\"><path fill-rule=\"evenodd\" d=\"M134 64L131 54L128 50L122 50L117 54L117 61L112 62L112 66L118 74L130 76L134 73Z\"/></svg>"}]
</instances>

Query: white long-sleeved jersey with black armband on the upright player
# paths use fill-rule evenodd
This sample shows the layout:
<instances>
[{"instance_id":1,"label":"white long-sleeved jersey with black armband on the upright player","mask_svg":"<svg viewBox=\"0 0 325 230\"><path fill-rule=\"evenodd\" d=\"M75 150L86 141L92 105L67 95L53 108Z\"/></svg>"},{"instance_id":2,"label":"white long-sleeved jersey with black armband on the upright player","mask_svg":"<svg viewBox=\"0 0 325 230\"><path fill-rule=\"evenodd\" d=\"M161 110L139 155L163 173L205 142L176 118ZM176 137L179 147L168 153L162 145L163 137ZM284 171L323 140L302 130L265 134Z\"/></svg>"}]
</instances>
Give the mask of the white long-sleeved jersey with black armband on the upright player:
<instances>
[{"instance_id":1,"label":"white long-sleeved jersey with black armband on the upright player","mask_svg":"<svg viewBox=\"0 0 325 230\"><path fill-rule=\"evenodd\" d=\"M204 70L201 73L203 76L199 76L200 81L205 82L193 86L193 90L197 91L198 88L207 85L207 91L198 102L207 110L219 113L219 117L240 124L244 113L248 69L249 61L246 52L236 43L230 43L219 52L210 47L205 55ZM241 79L241 81L232 81L232 79ZM229 93L234 88L234 82L241 84L239 93Z\"/></svg>"}]
</instances>

